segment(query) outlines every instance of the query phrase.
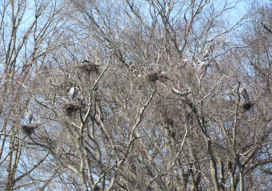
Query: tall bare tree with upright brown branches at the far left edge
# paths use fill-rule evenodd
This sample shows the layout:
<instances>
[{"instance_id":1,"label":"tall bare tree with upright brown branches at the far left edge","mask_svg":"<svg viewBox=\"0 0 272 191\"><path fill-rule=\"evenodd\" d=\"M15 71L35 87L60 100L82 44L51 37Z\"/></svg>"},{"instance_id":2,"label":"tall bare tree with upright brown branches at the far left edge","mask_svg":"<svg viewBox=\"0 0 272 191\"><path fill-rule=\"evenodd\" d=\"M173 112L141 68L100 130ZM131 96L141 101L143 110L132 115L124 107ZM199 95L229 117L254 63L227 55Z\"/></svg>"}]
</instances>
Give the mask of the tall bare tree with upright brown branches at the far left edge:
<instances>
[{"instance_id":1,"label":"tall bare tree with upright brown branches at the far left edge","mask_svg":"<svg viewBox=\"0 0 272 191\"><path fill-rule=\"evenodd\" d=\"M26 142L28 134L40 122L38 110L33 107L33 97L38 96L32 94L33 83L48 60L47 55L59 48L58 38L62 36L59 30L65 22L60 17L63 5L51 0L18 0L3 1L0 7L1 189L15 190L30 185L44 189L63 172L48 165L47 150L36 149ZM37 116L34 125L27 125L28 110ZM41 166L43 174L39 173Z\"/></svg>"}]
</instances>

